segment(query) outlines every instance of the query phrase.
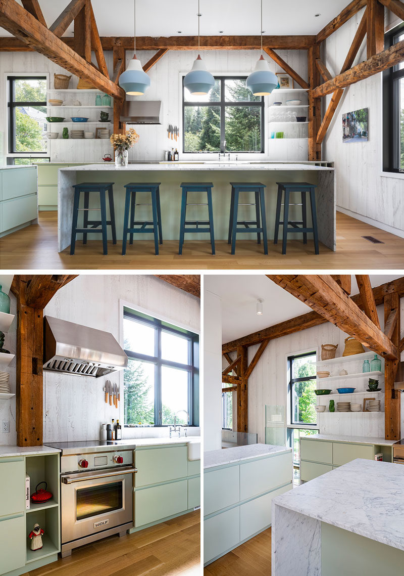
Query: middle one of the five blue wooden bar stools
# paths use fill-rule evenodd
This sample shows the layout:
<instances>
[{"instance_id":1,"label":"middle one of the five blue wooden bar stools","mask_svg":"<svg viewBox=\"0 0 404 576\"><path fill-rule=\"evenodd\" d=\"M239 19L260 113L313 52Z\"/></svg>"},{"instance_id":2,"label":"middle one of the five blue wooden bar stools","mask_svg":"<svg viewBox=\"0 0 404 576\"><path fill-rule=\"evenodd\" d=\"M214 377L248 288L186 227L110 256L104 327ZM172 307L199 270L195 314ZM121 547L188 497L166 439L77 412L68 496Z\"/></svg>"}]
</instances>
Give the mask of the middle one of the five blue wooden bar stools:
<instances>
[{"instance_id":1,"label":"middle one of the five blue wooden bar stools","mask_svg":"<svg viewBox=\"0 0 404 576\"><path fill-rule=\"evenodd\" d=\"M212 182L182 182L182 200L181 200L181 224L180 224L180 248L178 254L182 254L182 245L184 245L185 232L209 232L211 237L212 254L215 254L215 232L213 222L213 208L212 208ZM187 203L188 192L206 192L208 202L193 202ZM186 220L186 207L187 206L208 206L208 220ZM193 226L193 228L186 228L186 226ZM202 228L200 228L202 226Z\"/></svg>"}]
</instances>

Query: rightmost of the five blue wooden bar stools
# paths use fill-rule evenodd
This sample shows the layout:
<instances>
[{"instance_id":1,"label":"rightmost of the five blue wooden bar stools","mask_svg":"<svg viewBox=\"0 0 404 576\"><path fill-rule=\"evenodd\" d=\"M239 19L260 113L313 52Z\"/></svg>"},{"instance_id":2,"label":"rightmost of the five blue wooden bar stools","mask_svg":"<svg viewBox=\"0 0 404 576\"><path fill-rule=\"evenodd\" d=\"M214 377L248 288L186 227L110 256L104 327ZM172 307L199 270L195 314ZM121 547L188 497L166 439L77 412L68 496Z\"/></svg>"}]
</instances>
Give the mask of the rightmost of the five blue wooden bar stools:
<instances>
[{"instance_id":1,"label":"rightmost of the five blue wooden bar stools","mask_svg":"<svg viewBox=\"0 0 404 576\"><path fill-rule=\"evenodd\" d=\"M276 220L275 220L275 235L273 243L278 242L279 226L283 226L283 239L282 239L282 253L286 254L286 243L289 232L303 233L303 244L307 244L307 232L312 232L314 236L314 251L318 251L318 230L317 230L317 212L315 209L315 184L308 184L307 182L277 182L278 185L278 198L276 203ZM283 220L280 218L282 195L285 193L284 207L283 207ZM289 201L291 192L301 193L301 204L291 204ZM306 209L306 193L310 194L311 206L311 221L312 228L307 228L307 209ZM302 220L289 220L289 206L302 206ZM298 224L302 227L299 228ZM289 225L292 228L289 228Z\"/></svg>"}]
</instances>

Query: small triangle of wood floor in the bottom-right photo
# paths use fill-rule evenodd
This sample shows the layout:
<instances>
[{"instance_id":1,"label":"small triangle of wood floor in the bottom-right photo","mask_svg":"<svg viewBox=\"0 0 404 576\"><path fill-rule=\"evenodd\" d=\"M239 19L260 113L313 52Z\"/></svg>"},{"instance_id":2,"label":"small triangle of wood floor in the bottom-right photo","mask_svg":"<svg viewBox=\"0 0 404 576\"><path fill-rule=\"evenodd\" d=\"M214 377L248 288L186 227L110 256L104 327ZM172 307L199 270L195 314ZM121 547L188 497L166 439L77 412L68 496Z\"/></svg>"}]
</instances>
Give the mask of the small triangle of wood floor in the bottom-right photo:
<instances>
[{"instance_id":1,"label":"small triangle of wood floor in the bottom-right photo","mask_svg":"<svg viewBox=\"0 0 404 576\"><path fill-rule=\"evenodd\" d=\"M204 569L205 576L270 576L270 528L215 560ZM296 576L299 576L296 574Z\"/></svg>"}]
</instances>

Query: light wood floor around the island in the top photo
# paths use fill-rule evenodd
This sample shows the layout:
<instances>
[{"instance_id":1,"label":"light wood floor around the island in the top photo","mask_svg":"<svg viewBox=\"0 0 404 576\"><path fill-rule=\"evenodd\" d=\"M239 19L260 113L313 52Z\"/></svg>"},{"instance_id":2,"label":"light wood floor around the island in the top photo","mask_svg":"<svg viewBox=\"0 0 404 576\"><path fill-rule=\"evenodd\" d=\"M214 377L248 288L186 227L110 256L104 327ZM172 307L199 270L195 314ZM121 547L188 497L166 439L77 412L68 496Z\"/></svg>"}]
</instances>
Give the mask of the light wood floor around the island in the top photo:
<instances>
[{"instance_id":1,"label":"light wood floor around the island in the top photo","mask_svg":"<svg viewBox=\"0 0 404 576\"><path fill-rule=\"evenodd\" d=\"M384 244L372 244L362 236L374 236ZM178 256L178 242L165 241L160 255L154 254L151 240L136 240L128 246L127 255L121 255L121 242L108 243L108 255L102 255L101 241L89 241L86 246L76 244L76 253L70 256L67 248L57 249L57 213L41 212L37 225L27 226L0 239L1 270L233 270L293 269L306 270L402 270L404 268L404 238L384 232L364 222L337 212L337 251L331 252L320 245L320 254L314 254L312 241L304 245L289 240L286 255L282 255L281 242L269 242L265 256L262 245L253 240L238 240L236 253L224 240L216 242L216 256L210 252L208 241L188 241L182 256Z\"/></svg>"}]
</instances>

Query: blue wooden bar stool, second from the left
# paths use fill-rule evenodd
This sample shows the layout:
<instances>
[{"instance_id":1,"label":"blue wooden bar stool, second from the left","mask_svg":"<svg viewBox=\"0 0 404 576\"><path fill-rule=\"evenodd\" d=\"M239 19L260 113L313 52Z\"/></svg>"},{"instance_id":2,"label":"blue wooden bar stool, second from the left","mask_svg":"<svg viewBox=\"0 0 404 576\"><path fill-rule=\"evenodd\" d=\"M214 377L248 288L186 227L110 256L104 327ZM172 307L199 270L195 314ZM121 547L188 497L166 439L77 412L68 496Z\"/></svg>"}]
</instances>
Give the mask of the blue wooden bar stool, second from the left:
<instances>
[{"instance_id":1,"label":"blue wooden bar stool, second from the left","mask_svg":"<svg viewBox=\"0 0 404 576\"><path fill-rule=\"evenodd\" d=\"M160 209L160 184L161 182L146 182L137 183L131 182L125 184L125 214L124 214L124 229L122 240L122 255L126 254L126 245L129 237L129 244L134 242L134 234L154 234L154 251L158 255L158 245L163 243L163 233L161 227L161 209ZM138 203L136 204L136 193L148 192L151 195L151 204ZM136 206L151 206L153 220L135 220ZM129 220L130 211L130 220ZM138 226L138 228L135 228Z\"/></svg>"}]
</instances>

